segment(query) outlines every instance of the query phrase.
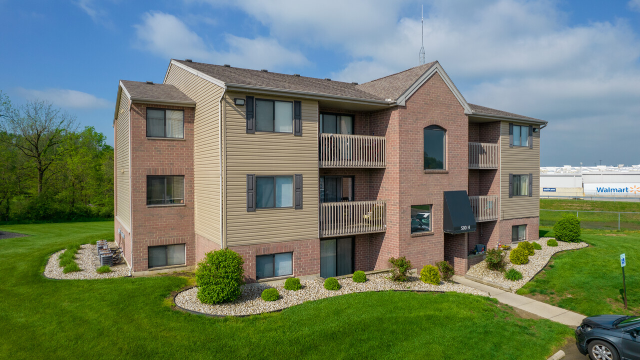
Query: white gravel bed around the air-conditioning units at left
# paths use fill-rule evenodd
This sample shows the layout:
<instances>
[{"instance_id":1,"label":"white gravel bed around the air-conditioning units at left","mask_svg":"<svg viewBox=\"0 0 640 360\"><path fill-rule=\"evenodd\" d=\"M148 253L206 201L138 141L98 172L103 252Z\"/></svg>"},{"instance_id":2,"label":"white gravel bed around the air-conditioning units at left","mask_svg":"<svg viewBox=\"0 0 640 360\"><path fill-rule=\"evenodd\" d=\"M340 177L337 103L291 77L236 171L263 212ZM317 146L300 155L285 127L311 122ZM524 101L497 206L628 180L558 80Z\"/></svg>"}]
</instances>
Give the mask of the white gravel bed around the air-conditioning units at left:
<instances>
[{"instance_id":1,"label":"white gravel bed around the air-conditioning units at left","mask_svg":"<svg viewBox=\"0 0 640 360\"><path fill-rule=\"evenodd\" d=\"M109 247L116 247L116 244L111 242ZM58 258L66 250L56 252L47 261L47 266L44 269L44 275L51 279L67 279L67 280L85 280L85 279L107 279L110 277L122 277L129 275L129 268L126 265L111 266L111 272L106 274L98 274L95 272L97 269L97 259L95 245L84 244L81 245L80 250L76 254L76 263L82 271L70 272L64 274L62 268L58 265Z\"/></svg>"}]
</instances>

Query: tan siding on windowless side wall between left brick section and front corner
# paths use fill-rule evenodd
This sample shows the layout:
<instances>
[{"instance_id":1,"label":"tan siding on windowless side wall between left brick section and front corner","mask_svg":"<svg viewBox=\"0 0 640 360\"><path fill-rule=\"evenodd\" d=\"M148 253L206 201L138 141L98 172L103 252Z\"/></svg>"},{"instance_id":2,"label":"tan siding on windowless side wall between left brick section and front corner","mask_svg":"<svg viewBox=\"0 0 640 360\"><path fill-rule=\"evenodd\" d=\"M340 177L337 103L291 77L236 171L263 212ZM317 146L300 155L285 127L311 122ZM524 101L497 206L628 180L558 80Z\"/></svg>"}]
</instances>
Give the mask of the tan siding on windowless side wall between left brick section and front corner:
<instances>
[{"instance_id":1,"label":"tan siding on windowless side wall between left brick section and front corner","mask_svg":"<svg viewBox=\"0 0 640 360\"><path fill-rule=\"evenodd\" d=\"M223 88L171 65L166 84L196 102L193 124L195 232L220 245L220 97Z\"/></svg>"}]
</instances>

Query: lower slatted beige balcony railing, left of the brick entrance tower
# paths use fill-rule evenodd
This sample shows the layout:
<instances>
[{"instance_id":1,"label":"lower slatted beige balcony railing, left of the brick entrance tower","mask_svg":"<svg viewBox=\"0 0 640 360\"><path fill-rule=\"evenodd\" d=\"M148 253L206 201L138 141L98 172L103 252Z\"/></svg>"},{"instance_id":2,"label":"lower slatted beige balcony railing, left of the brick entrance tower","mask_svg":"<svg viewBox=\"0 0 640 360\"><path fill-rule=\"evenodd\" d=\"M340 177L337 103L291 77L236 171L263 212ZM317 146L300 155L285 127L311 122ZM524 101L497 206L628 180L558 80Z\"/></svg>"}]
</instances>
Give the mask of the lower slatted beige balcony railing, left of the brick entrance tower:
<instances>
[{"instance_id":1,"label":"lower slatted beige balcony railing, left of the brick entrance tower","mask_svg":"<svg viewBox=\"0 0 640 360\"><path fill-rule=\"evenodd\" d=\"M320 237L381 233L387 229L384 200L323 202L320 204Z\"/></svg>"}]
</instances>

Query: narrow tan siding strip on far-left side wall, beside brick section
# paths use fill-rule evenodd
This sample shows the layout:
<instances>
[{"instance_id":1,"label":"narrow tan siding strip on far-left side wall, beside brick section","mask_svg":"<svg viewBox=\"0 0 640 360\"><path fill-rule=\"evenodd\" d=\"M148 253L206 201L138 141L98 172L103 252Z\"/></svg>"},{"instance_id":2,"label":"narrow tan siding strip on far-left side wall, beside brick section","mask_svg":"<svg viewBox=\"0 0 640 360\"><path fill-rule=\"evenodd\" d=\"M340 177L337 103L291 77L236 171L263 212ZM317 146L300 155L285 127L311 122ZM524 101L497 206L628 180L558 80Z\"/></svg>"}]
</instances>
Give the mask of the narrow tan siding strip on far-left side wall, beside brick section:
<instances>
[{"instance_id":1,"label":"narrow tan siding strip on far-left side wall, beside brick section","mask_svg":"<svg viewBox=\"0 0 640 360\"><path fill-rule=\"evenodd\" d=\"M116 215L120 223L131 229L131 179L129 171L129 98L120 94L120 109L116 121Z\"/></svg>"}]
</instances>

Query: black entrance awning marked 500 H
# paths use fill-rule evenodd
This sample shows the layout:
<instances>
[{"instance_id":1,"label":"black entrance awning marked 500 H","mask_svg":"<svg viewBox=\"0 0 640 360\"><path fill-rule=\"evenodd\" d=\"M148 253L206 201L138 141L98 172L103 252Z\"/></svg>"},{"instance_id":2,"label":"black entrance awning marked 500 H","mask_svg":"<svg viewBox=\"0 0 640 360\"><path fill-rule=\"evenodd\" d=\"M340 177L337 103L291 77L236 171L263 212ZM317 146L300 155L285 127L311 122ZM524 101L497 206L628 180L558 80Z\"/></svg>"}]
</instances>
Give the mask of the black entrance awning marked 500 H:
<instances>
[{"instance_id":1,"label":"black entrance awning marked 500 H","mask_svg":"<svg viewBox=\"0 0 640 360\"><path fill-rule=\"evenodd\" d=\"M444 192L444 232L449 234L476 231L476 217L466 190Z\"/></svg>"}]
</instances>

